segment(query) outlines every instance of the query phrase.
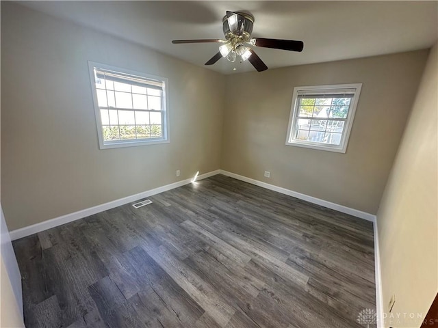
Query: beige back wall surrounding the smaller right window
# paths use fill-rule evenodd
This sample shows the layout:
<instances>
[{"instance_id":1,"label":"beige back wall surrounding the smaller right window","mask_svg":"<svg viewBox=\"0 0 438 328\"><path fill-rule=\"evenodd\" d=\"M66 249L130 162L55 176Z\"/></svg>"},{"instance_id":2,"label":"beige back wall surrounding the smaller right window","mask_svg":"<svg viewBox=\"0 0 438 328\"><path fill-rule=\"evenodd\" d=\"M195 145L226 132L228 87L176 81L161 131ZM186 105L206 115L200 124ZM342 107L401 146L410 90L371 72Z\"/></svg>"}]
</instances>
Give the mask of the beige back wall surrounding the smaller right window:
<instances>
[{"instance_id":1,"label":"beige back wall surrounding the smaller right window","mask_svg":"<svg viewBox=\"0 0 438 328\"><path fill-rule=\"evenodd\" d=\"M427 53L228 76L221 168L375 214ZM363 83L346 154L285 146L294 87L337 83Z\"/></svg>"}]
</instances>

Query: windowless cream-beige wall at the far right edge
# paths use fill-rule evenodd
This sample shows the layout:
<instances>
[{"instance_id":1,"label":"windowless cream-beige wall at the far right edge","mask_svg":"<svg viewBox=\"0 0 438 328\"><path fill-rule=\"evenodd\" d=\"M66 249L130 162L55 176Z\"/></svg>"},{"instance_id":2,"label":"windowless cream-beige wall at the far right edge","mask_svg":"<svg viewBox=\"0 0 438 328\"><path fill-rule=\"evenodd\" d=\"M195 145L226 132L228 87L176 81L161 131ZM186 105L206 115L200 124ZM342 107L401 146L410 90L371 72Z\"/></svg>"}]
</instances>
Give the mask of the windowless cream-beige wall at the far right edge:
<instances>
[{"instance_id":1,"label":"windowless cream-beige wall at the far right edge","mask_svg":"<svg viewBox=\"0 0 438 328\"><path fill-rule=\"evenodd\" d=\"M438 292L437 113L435 45L377 214L385 312L395 294L393 313L426 316ZM409 320L392 325L420 327Z\"/></svg>"}]
</instances>

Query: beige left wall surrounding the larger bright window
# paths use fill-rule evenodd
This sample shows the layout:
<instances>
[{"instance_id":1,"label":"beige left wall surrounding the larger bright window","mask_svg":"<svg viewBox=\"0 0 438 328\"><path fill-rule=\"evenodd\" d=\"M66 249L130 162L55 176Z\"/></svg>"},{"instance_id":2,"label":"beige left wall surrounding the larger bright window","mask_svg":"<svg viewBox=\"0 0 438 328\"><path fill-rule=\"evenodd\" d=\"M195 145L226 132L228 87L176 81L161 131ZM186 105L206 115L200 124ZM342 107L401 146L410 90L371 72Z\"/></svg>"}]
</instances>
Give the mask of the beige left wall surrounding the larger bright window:
<instances>
[{"instance_id":1,"label":"beige left wall surrounding the larger bright window","mask_svg":"<svg viewBox=\"0 0 438 328\"><path fill-rule=\"evenodd\" d=\"M88 60L167 77L171 142L99 150ZM10 230L220 168L224 77L211 70L2 1L1 86Z\"/></svg>"}]
</instances>

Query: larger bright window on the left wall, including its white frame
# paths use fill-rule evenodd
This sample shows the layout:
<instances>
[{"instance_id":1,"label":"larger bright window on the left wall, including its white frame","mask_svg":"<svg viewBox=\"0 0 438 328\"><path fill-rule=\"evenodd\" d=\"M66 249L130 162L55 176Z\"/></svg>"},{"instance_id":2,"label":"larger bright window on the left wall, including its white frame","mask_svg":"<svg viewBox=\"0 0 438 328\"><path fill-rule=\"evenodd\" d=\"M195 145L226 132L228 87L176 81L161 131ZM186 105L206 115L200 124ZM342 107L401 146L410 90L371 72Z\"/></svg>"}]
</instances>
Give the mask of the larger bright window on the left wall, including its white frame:
<instances>
[{"instance_id":1,"label":"larger bright window on the left wall, including its white frame","mask_svg":"<svg viewBox=\"0 0 438 328\"><path fill-rule=\"evenodd\" d=\"M89 61L99 146L168 142L168 80Z\"/></svg>"}]
</instances>

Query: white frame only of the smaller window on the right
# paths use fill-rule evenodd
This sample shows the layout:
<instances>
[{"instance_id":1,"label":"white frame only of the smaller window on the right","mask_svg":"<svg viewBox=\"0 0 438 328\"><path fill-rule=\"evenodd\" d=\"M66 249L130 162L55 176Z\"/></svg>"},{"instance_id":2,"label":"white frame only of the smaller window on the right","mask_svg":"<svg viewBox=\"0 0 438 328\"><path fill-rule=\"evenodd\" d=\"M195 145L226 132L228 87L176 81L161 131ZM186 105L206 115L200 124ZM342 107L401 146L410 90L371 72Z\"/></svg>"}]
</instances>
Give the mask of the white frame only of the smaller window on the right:
<instances>
[{"instance_id":1,"label":"white frame only of the smaller window on the right","mask_svg":"<svg viewBox=\"0 0 438 328\"><path fill-rule=\"evenodd\" d=\"M315 85L305 87L294 87L294 94L292 97L292 106L289 116L289 125L287 128L286 145L298 146L304 148L327 150L330 152L342 152L345 153L348 145L348 139L350 138L350 132L355 118L357 103L359 102L359 96L361 94L362 83L350 83L350 84L337 84L337 85ZM311 94L354 94L352 101L350 102L350 108L348 109L347 118L344 119L344 131L342 132L341 142L339 145L331 145L329 143L321 143L316 141L305 141L295 139L296 127L298 125L298 102L299 94L311 95ZM315 120L324 120L324 118L318 118Z\"/></svg>"}]
</instances>

